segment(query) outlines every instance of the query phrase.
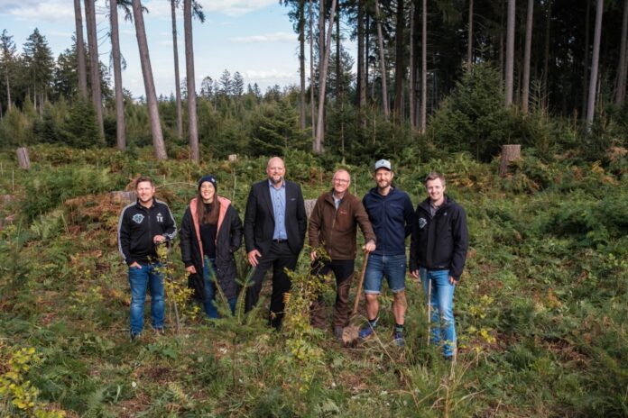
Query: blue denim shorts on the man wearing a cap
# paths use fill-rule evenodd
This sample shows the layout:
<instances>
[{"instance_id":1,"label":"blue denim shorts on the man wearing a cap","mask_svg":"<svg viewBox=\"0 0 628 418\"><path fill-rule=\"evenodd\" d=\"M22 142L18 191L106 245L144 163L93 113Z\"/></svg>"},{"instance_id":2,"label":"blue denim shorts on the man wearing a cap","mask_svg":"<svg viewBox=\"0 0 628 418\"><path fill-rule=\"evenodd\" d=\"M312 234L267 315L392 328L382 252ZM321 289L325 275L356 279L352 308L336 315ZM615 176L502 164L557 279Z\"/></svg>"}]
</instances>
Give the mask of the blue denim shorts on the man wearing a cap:
<instances>
[{"instance_id":1,"label":"blue denim shorts on the man wearing a cap","mask_svg":"<svg viewBox=\"0 0 628 418\"><path fill-rule=\"evenodd\" d=\"M365 274L365 294L379 295L382 291L382 281L385 276L392 293L405 290L406 256L368 256L368 265Z\"/></svg>"}]
</instances>

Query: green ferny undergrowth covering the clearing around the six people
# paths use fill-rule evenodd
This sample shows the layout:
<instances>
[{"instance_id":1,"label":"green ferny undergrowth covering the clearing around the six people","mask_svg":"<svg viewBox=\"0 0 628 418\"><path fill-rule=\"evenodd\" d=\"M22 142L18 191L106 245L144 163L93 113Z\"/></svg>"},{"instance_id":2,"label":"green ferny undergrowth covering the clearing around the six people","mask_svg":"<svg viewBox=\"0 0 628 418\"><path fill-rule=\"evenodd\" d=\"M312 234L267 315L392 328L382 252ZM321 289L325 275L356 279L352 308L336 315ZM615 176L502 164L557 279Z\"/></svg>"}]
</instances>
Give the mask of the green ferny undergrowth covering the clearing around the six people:
<instances>
[{"instance_id":1,"label":"green ferny undergrowth covering the clearing around the six people","mask_svg":"<svg viewBox=\"0 0 628 418\"><path fill-rule=\"evenodd\" d=\"M0 155L0 195L8 196L0 218L11 219L0 231L0 416L628 413L625 162L603 166L530 150L504 178L496 175L498 161L478 163L465 153L397 168L397 185L414 204L424 198L421 178L439 169L466 208L471 248L457 287L460 352L452 365L427 345L423 290L410 278L404 349L392 343L387 290L375 338L343 348L330 330L312 330L304 255L282 332L264 319L268 287L260 309L230 316L223 306L226 317L208 321L175 286L165 335L143 332L129 341L126 268L115 242L124 204L108 192L149 174L180 222L197 178L211 172L242 216L266 160L195 166L185 158L51 146L31 154L29 171ZM327 189L335 168L300 151L286 165L306 198ZM370 168L348 168L351 191L364 195L374 185ZM178 246L168 257L169 277L185 284ZM244 250L236 259L245 285ZM361 264L358 258L358 271ZM335 295L323 292L330 306ZM361 309L354 323L364 315ZM23 407L27 395L32 405Z\"/></svg>"}]
</instances>

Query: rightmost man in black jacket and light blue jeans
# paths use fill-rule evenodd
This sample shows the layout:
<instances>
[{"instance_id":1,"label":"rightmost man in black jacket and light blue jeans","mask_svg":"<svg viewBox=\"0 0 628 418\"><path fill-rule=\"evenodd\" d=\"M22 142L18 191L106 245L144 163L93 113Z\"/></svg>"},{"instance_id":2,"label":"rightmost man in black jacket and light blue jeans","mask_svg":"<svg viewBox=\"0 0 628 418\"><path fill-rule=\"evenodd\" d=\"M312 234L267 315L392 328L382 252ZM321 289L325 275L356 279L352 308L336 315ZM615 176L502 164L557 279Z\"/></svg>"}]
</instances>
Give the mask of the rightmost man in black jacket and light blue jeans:
<instances>
[{"instance_id":1,"label":"rightmost man in black jacket and light blue jeans","mask_svg":"<svg viewBox=\"0 0 628 418\"><path fill-rule=\"evenodd\" d=\"M417 206L410 246L410 272L431 293L431 341L443 343L445 357L456 355L454 289L465 267L469 239L465 210L445 195L445 177L425 178L429 197Z\"/></svg>"}]
</instances>

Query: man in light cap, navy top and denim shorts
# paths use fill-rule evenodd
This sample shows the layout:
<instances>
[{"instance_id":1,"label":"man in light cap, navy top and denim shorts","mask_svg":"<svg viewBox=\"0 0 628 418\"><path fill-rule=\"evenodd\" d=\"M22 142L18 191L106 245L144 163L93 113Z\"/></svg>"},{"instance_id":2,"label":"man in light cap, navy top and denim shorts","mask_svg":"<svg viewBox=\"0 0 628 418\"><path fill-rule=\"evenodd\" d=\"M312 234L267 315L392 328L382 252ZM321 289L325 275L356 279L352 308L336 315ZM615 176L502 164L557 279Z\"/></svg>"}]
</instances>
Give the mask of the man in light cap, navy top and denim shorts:
<instances>
[{"instance_id":1,"label":"man in light cap, navy top and denim shorts","mask_svg":"<svg viewBox=\"0 0 628 418\"><path fill-rule=\"evenodd\" d=\"M410 196L392 186L394 173L390 161L380 159L375 163L375 182L362 200L369 221L373 225L377 248L369 255L365 274L365 298L368 323L360 330L359 338L370 337L377 326L379 302L377 296L386 277L388 287L394 295L392 313L395 319L394 341L404 345L403 324L405 323L405 239L411 233L414 209Z\"/></svg>"}]
</instances>

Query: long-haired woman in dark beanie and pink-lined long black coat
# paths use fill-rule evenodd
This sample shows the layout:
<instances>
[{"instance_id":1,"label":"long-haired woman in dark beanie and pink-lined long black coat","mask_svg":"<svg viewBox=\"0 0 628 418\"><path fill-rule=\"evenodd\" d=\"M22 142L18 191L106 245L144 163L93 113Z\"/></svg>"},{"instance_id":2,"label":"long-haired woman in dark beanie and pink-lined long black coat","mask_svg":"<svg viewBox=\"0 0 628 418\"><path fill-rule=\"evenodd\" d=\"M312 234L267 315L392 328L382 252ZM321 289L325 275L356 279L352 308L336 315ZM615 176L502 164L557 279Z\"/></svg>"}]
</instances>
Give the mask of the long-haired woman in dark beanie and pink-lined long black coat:
<instances>
[{"instance_id":1,"label":"long-haired woman in dark beanie and pink-lined long black coat","mask_svg":"<svg viewBox=\"0 0 628 418\"><path fill-rule=\"evenodd\" d=\"M181 259L189 273L188 286L205 304L209 318L217 318L220 286L235 312L238 286L234 252L242 243L242 221L229 199L217 195L216 177L199 180L199 195L189 202L180 230Z\"/></svg>"}]
</instances>

